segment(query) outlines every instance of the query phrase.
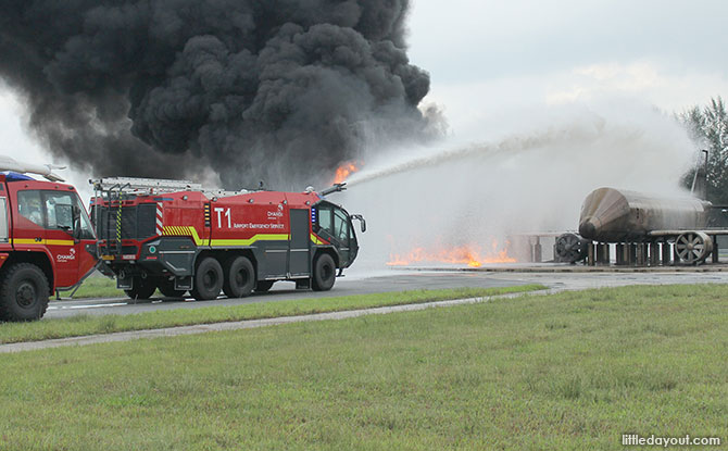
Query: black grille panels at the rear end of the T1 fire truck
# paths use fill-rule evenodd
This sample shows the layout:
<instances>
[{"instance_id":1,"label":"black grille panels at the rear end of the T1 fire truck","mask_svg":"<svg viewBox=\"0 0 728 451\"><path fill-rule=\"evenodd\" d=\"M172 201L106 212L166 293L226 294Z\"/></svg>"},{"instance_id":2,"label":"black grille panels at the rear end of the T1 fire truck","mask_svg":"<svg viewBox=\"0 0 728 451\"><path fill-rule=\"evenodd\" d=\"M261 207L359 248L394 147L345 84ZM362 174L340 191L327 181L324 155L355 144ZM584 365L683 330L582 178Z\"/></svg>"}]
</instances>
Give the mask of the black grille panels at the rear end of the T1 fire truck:
<instances>
[{"instance_id":1,"label":"black grille panels at the rear end of the T1 fire truck","mask_svg":"<svg viewBox=\"0 0 728 451\"><path fill-rule=\"evenodd\" d=\"M116 209L93 206L93 222L99 239L116 239ZM143 203L122 208L122 239L147 239L156 234L156 204Z\"/></svg>"}]
</instances>

